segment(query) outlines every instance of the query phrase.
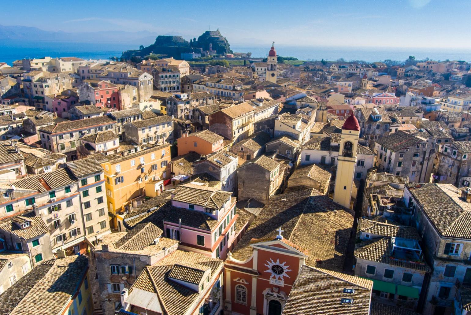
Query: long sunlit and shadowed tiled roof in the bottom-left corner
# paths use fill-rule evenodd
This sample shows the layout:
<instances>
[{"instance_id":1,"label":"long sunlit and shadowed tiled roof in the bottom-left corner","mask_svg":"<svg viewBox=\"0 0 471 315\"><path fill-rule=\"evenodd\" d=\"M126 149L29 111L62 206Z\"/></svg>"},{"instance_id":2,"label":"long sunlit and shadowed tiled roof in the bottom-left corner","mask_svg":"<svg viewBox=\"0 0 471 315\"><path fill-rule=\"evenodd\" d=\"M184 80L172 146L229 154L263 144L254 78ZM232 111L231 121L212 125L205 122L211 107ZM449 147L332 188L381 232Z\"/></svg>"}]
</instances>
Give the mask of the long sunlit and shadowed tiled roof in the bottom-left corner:
<instances>
[{"instance_id":1,"label":"long sunlit and shadowed tiled roof in the bottom-left corner","mask_svg":"<svg viewBox=\"0 0 471 315\"><path fill-rule=\"evenodd\" d=\"M87 270L86 256L74 255L42 263L0 296L3 302L10 302L10 299L16 302L15 305L1 303L0 314L31 314L32 310L41 314L60 314L76 293Z\"/></svg>"}]
</instances>

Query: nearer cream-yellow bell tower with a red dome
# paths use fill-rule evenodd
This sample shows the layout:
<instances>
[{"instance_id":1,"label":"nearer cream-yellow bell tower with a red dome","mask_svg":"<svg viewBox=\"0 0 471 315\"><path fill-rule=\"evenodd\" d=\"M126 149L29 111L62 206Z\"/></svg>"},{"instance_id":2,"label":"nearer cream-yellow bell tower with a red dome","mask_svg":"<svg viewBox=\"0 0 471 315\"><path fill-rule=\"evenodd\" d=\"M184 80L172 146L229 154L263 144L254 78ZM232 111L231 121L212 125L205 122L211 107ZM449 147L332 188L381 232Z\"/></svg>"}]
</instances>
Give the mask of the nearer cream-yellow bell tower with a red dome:
<instances>
[{"instance_id":1,"label":"nearer cream-yellow bell tower with a red dome","mask_svg":"<svg viewBox=\"0 0 471 315\"><path fill-rule=\"evenodd\" d=\"M333 192L333 201L349 209L352 209L351 197L355 166L357 165L359 135L360 125L357 118L351 114L342 126L337 175L335 176ZM356 194L353 197L356 198Z\"/></svg>"}]
</instances>

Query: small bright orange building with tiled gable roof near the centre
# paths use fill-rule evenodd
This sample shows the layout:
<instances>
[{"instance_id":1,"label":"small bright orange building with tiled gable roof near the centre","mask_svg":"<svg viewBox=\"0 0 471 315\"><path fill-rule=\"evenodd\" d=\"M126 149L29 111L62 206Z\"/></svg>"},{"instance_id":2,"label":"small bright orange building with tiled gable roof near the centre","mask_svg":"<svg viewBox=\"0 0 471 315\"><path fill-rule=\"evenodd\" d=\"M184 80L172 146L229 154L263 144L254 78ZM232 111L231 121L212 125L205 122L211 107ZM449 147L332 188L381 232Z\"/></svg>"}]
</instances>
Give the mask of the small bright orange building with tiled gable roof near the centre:
<instances>
[{"instance_id":1,"label":"small bright orange building with tiled gable roof near the centre","mask_svg":"<svg viewBox=\"0 0 471 315\"><path fill-rule=\"evenodd\" d=\"M186 133L177 141L178 155L190 152L208 155L218 152L224 146L223 140L223 137L209 130L198 131L191 134Z\"/></svg>"}]
</instances>

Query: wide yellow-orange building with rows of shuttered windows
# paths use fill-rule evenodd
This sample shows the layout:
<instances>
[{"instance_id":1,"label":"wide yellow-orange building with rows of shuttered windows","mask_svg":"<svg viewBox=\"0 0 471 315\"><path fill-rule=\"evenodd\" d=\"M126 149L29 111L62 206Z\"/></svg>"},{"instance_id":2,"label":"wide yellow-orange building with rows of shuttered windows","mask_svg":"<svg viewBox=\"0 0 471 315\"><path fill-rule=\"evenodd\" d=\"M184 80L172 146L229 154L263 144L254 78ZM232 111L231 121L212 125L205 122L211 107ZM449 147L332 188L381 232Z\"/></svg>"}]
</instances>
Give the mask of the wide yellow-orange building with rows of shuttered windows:
<instances>
[{"instance_id":1,"label":"wide yellow-orange building with rows of shuttered windows","mask_svg":"<svg viewBox=\"0 0 471 315\"><path fill-rule=\"evenodd\" d=\"M170 178L170 160L170 144L145 144L138 152L107 155L101 166L105 169L109 212L115 215L144 196L148 182L162 181L163 189L163 180Z\"/></svg>"}]
</instances>

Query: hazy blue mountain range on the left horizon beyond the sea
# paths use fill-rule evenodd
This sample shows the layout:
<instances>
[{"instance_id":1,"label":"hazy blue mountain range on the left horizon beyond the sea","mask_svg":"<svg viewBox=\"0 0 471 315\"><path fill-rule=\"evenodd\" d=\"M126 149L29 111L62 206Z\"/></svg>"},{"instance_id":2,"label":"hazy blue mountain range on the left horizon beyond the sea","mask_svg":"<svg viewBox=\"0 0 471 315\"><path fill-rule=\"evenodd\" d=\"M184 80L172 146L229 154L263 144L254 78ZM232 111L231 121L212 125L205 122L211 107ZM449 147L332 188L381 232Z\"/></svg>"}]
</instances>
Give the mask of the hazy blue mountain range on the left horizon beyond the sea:
<instances>
[{"instance_id":1,"label":"hazy blue mountain range on the left horizon beyond the sea","mask_svg":"<svg viewBox=\"0 0 471 315\"><path fill-rule=\"evenodd\" d=\"M148 31L99 31L99 32L51 32L37 27L21 25L0 25L0 40L51 40L51 41L92 41L92 42L154 42L157 33Z\"/></svg>"}]
</instances>

